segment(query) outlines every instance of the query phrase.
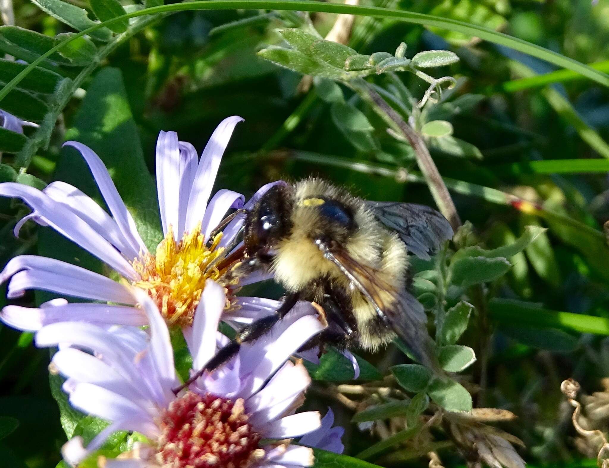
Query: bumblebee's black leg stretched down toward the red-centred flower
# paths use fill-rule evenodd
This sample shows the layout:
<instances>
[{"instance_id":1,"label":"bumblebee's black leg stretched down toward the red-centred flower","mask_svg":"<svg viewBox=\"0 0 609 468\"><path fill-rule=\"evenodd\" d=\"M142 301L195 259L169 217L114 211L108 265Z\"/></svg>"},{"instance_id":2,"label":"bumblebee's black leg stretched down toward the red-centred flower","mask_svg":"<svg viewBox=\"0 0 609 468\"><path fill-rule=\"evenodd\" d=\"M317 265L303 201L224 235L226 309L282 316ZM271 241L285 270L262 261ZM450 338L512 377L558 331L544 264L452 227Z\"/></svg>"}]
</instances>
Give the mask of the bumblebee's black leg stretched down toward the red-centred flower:
<instances>
[{"instance_id":1,"label":"bumblebee's black leg stretched down toward the red-centred flower","mask_svg":"<svg viewBox=\"0 0 609 468\"><path fill-rule=\"evenodd\" d=\"M287 312L289 312L294 305L297 303L299 298L298 293L288 294L285 298L281 306L275 311L274 314L268 315L267 317L259 318L254 322L250 323L250 325L245 326L239 331L234 340L228 343L228 345L223 346L219 349L214 357L212 357L208 363L205 364L201 369L192 374L192 376L184 382L184 384L180 385L180 387L173 388L172 391L174 394L178 394L180 390L188 387L188 385L192 384L195 380L199 379L200 376L205 373L205 371L213 371L227 363L232 357L236 356L239 353L239 348L241 348L241 343L247 343L253 340L258 339L259 337L267 334L273 325L278 322L281 318L283 318Z\"/></svg>"}]
</instances>

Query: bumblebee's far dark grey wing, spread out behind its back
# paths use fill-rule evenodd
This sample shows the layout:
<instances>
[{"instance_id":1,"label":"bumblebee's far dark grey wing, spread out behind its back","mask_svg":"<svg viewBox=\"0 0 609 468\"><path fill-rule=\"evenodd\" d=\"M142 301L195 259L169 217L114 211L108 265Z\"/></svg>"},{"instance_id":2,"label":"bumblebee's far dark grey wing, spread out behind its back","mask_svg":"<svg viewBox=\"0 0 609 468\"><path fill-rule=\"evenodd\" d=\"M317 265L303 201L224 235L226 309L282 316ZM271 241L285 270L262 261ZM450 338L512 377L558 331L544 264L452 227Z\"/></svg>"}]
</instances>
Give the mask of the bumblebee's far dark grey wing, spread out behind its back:
<instances>
[{"instance_id":1,"label":"bumblebee's far dark grey wing, spread out behind its back","mask_svg":"<svg viewBox=\"0 0 609 468\"><path fill-rule=\"evenodd\" d=\"M410 252L423 260L444 241L452 238L452 227L434 208L414 203L366 202L382 224L400 235Z\"/></svg>"}]
</instances>

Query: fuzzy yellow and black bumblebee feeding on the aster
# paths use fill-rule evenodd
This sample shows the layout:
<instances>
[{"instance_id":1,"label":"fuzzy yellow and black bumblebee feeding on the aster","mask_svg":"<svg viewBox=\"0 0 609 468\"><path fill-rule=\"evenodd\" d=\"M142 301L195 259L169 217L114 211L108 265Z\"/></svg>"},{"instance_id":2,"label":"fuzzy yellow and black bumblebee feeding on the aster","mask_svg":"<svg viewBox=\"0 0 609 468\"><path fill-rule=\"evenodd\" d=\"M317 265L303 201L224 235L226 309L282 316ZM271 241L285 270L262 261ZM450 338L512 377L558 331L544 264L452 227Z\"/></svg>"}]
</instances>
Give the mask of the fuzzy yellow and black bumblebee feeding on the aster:
<instances>
[{"instance_id":1,"label":"fuzzy yellow and black bumblebee feeding on the aster","mask_svg":"<svg viewBox=\"0 0 609 468\"><path fill-rule=\"evenodd\" d=\"M272 273L287 295L275 314L245 326L204 370L266 334L298 300L320 305L328 321L306 348L378 349L397 336L415 359L436 368L423 306L408 291L408 252L429 260L451 238L446 218L424 205L365 201L322 179L275 185L245 214L238 270Z\"/></svg>"}]
</instances>

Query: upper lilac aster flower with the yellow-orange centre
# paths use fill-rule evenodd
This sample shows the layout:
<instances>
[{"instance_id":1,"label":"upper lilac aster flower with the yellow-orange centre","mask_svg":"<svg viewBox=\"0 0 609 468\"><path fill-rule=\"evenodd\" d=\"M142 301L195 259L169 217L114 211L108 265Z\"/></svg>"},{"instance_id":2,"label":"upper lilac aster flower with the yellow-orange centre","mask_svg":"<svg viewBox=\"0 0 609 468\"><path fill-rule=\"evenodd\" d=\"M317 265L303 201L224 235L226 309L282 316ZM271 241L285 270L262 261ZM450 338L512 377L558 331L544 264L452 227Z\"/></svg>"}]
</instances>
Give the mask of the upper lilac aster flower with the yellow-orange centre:
<instances>
[{"instance_id":1,"label":"upper lilac aster flower with the yellow-orange centre","mask_svg":"<svg viewBox=\"0 0 609 468\"><path fill-rule=\"evenodd\" d=\"M237 215L223 232L213 233L227 210L244 206L244 196L219 190L209 200L222 154L241 117L223 120L205 146L200 161L190 143L178 141L175 132L159 134L157 142L157 188L161 224L165 238L155 252L149 252L135 227L102 160L90 148L67 142L80 151L93 173L110 215L93 199L65 182L52 182L43 191L23 184L0 184L0 196L18 197L32 208L15 226L15 235L27 219L49 225L112 267L133 286L148 292L169 325L190 328L203 287L211 279L225 288L227 308L234 322L248 322L272 313L276 301L235 298L236 280L228 278L227 258L244 221ZM275 182L280 183L280 182ZM273 184L262 187L245 205L248 208ZM12 278L11 278L12 277ZM7 306L0 318L15 328L36 330L48 323L85 320L118 325L145 325L146 315L128 311L135 300L125 284L82 267L52 258L20 255L0 274L0 282L11 278L8 297L23 295L26 289L43 289L57 294L114 303L65 303L55 301L44 308ZM260 280L242 278L239 286ZM125 306L126 305L126 306Z\"/></svg>"}]
</instances>

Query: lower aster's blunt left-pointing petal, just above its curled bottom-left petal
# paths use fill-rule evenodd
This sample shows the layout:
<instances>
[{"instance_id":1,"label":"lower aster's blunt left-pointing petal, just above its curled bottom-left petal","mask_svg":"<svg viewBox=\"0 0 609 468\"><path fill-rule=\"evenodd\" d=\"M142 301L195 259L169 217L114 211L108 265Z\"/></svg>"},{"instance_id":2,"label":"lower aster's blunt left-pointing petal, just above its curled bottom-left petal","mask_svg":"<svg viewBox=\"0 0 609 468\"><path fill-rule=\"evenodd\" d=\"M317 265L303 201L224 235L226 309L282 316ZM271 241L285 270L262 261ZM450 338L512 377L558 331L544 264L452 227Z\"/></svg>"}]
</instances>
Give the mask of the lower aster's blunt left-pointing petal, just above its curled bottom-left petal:
<instances>
[{"instance_id":1,"label":"lower aster's blunt left-pointing petal, just above its curled bottom-left petal","mask_svg":"<svg viewBox=\"0 0 609 468\"><path fill-rule=\"evenodd\" d=\"M74 391L70 393L69 401L80 411L108 421L135 419L136 421L153 422L151 416L135 402L105 388L97 387L97 385L77 384Z\"/></svg>"}]
</instances>

